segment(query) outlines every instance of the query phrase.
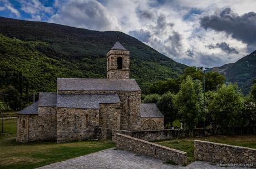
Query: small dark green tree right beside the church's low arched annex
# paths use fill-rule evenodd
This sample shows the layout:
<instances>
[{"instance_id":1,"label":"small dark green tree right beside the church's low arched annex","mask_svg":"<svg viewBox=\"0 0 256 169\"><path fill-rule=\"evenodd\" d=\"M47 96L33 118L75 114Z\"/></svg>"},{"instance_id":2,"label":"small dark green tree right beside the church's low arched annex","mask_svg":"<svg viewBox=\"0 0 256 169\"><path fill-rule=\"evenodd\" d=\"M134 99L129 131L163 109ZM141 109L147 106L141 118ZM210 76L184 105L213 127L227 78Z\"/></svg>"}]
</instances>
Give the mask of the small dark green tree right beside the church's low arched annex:
<instances>
[{"instance_id":1,"label":"small dark green tree right beside the church's low arched annex","mask_svg":"<svg viewBox=\"0 0 256 169\"><path fill-rule=\"evenodd\" d=\"M165 124L170 124L171 127L173 126L173 121L177 117L177 111L174 109L173 105L173 98L174 94L168 92L162 95L157 102L157 106L159 107L160 111L163 113L165 117Z\"/></svg>"}]
</instances>

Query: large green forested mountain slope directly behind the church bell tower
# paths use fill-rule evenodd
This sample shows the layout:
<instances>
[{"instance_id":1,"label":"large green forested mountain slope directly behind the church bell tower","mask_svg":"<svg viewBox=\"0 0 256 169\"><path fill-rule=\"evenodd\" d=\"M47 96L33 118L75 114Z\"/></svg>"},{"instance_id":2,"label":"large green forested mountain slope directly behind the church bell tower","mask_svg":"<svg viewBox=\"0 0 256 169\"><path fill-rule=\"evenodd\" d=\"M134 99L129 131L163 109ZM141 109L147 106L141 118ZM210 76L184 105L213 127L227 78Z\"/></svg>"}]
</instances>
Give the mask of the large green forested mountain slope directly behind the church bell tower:
<instances>
[{"instance_id":1,"label":"large green forested mountain slope directly behind the church bell tower","mask_svg":"<svg viewBox=\"0 0 256 169\"><path fill-rule=\"evenodd\" d=\"M13 85L21 93L55 91L57 77L106 78L106 53L117 35L130 50L131 78L142 90L186 68L122 32L0 17L0 34L0 89Z\"/></svg>"}]
</instances>

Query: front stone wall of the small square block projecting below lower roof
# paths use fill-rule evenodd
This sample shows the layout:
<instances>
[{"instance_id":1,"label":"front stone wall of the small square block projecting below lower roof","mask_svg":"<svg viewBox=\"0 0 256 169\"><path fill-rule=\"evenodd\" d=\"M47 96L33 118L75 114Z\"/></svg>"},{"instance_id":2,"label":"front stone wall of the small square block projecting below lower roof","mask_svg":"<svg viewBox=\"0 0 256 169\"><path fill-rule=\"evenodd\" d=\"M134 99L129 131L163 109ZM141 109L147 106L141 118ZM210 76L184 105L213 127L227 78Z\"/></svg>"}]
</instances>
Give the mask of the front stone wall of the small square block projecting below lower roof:
<instances>
[{"instance_id":1,"label":"front stone wall of the small square block projecting below lower roof","mask_svg":"<svg viewBox=\"0 0 256 169\"><path fill-rule=\"evenodd\" d=\"M120 103L100 104L99 127L120 130Z\"/></svg>"}]
</instances>

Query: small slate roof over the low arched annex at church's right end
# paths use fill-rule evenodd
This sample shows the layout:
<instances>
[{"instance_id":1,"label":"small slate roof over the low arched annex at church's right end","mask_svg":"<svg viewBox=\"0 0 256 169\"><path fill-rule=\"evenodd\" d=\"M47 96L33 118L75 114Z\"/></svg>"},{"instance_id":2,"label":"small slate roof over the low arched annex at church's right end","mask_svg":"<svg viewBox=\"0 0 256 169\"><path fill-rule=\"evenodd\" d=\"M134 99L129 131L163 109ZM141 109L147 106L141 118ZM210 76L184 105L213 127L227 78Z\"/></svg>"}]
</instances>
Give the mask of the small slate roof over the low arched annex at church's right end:
<instances>
[{"instance_id":1,"label":"small slate roof over the low arched annex at church's right end","mask_svg":"<svg viewBox=\"0 0 256 169\"><path fill-rule=\"evenodd\" d=\"M156 104L140 104L140 116L142 118L164 118Z\"/></svg>"}]
</instances>

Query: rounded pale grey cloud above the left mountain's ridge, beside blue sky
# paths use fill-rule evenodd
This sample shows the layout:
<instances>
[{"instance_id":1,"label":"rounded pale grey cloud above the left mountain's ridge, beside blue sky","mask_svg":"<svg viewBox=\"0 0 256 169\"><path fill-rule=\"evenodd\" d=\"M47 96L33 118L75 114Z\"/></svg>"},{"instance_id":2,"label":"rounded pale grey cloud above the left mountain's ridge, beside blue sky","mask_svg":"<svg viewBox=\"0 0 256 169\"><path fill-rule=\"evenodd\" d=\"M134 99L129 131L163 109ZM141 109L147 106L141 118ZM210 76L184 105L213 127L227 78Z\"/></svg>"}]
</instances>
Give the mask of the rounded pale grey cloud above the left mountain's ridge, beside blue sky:
<instances>
[{"instance_id":1,"label":"rounded pale grey cloud above the left mountain's ridge, beside blue sky","mask_svg":"<svg viewBox=\"0 0 256 169\"><path fill-rule=\"evenodd\" d=\"M50 22L94 30L118 30L120 25L101 3L75 0L63 4Z\"/></svg>"}]
</instances>

